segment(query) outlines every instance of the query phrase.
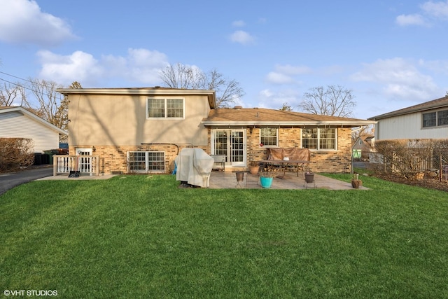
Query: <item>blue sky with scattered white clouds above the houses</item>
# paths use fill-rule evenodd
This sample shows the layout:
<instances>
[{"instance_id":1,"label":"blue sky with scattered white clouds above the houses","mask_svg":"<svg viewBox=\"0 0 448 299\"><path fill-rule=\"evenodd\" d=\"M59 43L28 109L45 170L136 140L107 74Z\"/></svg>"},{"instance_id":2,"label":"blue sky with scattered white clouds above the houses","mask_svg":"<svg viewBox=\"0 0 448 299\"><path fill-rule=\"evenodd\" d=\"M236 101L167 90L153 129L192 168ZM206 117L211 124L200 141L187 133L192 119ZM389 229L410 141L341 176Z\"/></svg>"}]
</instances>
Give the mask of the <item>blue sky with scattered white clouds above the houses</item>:
<instances>
[{"instance_id":1,"label":"blue sky with scattered white clouds above the houses","mask_svg":"<svg viewBox=\"0 0 448 299\"><path fill-rule=\"evenodd\" d=\"M152 87L179 62L239 81L245 107L340 85L365 119L446 95L447 29L448 0L0 0L0 78Z\"/></svg>"}]
</instances>

